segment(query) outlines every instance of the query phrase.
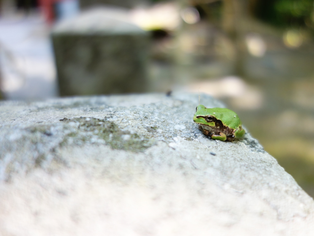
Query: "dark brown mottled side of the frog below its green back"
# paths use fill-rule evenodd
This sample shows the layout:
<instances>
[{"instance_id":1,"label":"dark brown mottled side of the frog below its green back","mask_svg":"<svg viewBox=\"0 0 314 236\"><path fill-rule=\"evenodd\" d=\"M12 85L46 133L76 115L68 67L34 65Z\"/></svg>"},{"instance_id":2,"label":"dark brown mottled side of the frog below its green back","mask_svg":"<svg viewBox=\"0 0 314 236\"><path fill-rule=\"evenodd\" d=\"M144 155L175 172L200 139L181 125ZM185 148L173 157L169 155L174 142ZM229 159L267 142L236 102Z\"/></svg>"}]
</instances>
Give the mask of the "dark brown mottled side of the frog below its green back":
<instances>
[{"instance_id":1,"label":"dark brown mottled side of the frog below its green back","mask_svg":"<svg viewBox=\"0 0 314 236\"><path fill-rule=\"evenodd\" d=\"M199 115L198 117L203 117L205 118L205 116L201 116ZM215 117L214 118L214 123L215 126L209 126L209 125L203 125L203 124L199 124L198 128L203 132L204 135L211 137L212 134L216 134L219 135L220 132L224 133L227 136L226 141L232 141L234 139L234 135L233 129L230 129L227 126L224 126L222 124L222 122L220 120L217 120Z\"/></svg>"}]
</instances>

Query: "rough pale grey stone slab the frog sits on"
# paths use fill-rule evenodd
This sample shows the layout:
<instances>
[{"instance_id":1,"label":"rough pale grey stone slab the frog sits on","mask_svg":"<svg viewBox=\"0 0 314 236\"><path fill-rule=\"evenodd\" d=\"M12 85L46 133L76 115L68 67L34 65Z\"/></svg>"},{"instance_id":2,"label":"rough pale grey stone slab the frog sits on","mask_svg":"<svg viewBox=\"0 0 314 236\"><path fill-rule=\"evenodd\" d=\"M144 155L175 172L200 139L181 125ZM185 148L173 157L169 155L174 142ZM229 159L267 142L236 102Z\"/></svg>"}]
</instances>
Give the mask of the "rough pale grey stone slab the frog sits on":
<instances>
[{"instance_id":1,"label":"rough pale grey stone slab the frog sits on","mask_svg":"<svg viewBox=\"0 0 314 236\"><path fill-rule=\"evenodd\" d=\"M249 133L204 136L197 105L193 94L1 102L0 235L313 235L313 199Z\"/></svg>"}]
</instances>

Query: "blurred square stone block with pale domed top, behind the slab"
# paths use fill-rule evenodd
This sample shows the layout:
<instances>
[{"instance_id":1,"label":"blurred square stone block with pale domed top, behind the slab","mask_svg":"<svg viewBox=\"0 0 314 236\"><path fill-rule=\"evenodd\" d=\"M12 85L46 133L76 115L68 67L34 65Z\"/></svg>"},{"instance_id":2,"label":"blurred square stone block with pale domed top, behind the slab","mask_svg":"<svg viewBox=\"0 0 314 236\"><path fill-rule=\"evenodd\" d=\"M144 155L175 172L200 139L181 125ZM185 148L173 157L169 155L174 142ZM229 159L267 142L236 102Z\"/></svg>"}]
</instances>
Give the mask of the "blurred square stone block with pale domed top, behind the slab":
<instances>
[{"instance_id":1,"label":"blurred square stone block with pale domed top, behind the slab","mask_svg":"<svg viewBox=\"0 0 314 236\"><path fill-rule=\"evenodd\" d=\"M60 95L146 91L149 35L127 10L98 8L52 30Z\"/></svg>"}]
</instances>

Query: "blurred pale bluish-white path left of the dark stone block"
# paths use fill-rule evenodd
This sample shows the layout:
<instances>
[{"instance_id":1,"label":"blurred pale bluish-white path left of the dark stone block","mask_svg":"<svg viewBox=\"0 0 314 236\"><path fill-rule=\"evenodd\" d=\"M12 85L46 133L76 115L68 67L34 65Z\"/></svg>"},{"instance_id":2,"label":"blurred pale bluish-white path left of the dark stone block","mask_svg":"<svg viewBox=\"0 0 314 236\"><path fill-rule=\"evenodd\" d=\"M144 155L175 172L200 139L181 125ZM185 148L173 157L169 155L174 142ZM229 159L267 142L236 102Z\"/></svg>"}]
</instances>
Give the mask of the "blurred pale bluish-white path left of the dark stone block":
<instances>
[{"instance_id":1,"label":"blurred pale bluish-white path left of the dark stone block","mask_svg":"<svg viewBox=\"0 0 314 236\"><path fill-rule=\"evenodd\" d=\"M57 94L49 27L39 14L0 18L1 88L8 99Z\"/></svg>"}]
</instances>

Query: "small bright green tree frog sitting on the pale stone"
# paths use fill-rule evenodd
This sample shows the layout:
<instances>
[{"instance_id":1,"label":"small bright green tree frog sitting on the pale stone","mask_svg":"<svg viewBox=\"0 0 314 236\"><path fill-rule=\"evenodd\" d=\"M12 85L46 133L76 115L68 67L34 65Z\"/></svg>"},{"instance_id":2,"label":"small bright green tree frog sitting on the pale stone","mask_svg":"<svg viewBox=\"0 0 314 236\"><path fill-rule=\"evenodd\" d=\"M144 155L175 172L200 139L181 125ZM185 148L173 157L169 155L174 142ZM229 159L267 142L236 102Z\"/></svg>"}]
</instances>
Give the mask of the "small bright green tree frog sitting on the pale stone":
<instances>
[{"instance_id":1,"label":"small bright green tree frog sitting on the pale stone","mask_svg":"<svg viewBox=\"0 0 314 236\"><path fill-rule=\"evenodd\" d=\"M203 134L216 140L230 142L245 133L238 115L226 108L198 105L193 121L199 125Z\"/></svg>"}]
</instances>

